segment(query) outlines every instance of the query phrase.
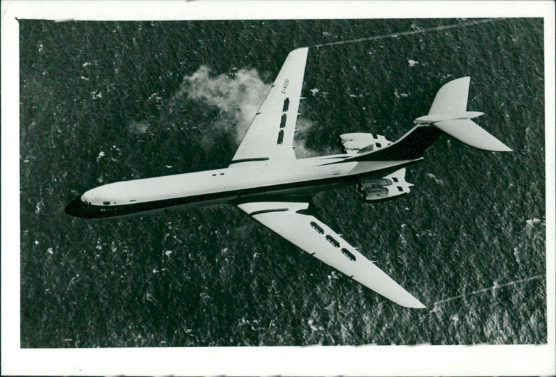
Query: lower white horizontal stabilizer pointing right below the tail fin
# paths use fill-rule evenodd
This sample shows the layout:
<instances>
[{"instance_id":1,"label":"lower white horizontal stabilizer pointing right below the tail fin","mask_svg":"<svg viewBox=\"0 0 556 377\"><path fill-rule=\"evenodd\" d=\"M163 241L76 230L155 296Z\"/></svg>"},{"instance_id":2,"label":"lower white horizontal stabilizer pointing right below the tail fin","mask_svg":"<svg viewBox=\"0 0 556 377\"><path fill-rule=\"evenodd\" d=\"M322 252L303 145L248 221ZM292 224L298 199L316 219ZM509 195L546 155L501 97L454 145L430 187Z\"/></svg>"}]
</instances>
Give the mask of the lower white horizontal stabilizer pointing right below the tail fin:
<instances>
[{"instance_id":1,"label":"lower white horizontal stabilizer pointing right below the tail fin","mask_svg":"<svg viewBox=\"0 0 556 377\"><path fill-rule=\"evenodd\" d=\"M444 120L434 122L433 125L472 147L496 152L512 152L512 149L486 132L471 119Z\"/></svg>"}]
</instances>

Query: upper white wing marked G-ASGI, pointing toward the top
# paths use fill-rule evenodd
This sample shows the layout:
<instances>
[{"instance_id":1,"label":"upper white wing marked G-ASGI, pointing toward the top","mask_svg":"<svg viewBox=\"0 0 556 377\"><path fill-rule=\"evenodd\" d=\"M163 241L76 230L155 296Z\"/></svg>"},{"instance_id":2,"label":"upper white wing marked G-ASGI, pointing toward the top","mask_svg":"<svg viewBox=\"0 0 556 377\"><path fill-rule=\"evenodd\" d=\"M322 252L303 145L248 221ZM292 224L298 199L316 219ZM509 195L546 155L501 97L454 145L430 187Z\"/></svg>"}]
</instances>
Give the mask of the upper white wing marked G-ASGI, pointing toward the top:
<instances>
[{"instance_id":1,"label":"upper white wing marked G-ASGI, pointing toward the top","mask_svg":"<svg viewBox=\"0 0 556 377\"><path fill-rule=\"evenodd\" d=\"M231 164L295 159L293 135L308 50L303 47L288 54Z\"/></svg>"}]
</instances>

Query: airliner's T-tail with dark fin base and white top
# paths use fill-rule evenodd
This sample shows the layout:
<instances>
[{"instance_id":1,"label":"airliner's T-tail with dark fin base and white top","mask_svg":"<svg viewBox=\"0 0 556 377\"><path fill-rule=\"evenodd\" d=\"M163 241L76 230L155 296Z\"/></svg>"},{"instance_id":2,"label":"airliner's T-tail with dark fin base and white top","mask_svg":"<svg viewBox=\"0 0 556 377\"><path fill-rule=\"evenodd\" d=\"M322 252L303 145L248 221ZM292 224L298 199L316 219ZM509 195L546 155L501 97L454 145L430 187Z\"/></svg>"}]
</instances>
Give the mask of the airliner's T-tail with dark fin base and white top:
<instances>
[{"instance_id":1,"label":"airliner's T-tail with dark fin base and white top","mask_svg":"<svg viewBox=\"0 0 556 377\"><path fill-rule=\"evenodd\" d=\"M348 160L394 161L420 159L423 157L425 150L443 133L482 150L512 152L507 145L471 120L483 115L483 113L467 111L469 81L469 77L461 77L445 83L436 93L428 115L416 118L414 120L416 126L395 143L379 150L356 154Z\"/></svg>"}]
</instances>

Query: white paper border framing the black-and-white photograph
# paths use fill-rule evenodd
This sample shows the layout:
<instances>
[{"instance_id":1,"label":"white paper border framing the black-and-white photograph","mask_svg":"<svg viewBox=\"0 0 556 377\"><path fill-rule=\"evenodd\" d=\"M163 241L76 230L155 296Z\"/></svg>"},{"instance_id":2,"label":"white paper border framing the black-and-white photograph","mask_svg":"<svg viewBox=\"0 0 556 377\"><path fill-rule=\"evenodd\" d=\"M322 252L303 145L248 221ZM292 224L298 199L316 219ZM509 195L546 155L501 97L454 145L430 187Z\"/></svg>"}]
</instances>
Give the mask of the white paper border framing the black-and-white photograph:
<instances>
[{"instance_id":1,"label":"white paper border framing the black-and-white photograph","mask_svg":"<svg viewBox=\"0 0 556 377\"><path fill-rule=\"evenodd\" d=\"M19 19L188 20L543 17L546 345L20 348ZM555 5L553 1L2 1L1 373L10 375L554 375Z\"/></svg>"}]
</instances>

